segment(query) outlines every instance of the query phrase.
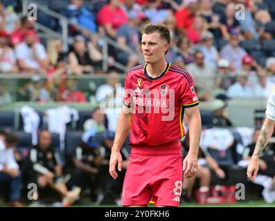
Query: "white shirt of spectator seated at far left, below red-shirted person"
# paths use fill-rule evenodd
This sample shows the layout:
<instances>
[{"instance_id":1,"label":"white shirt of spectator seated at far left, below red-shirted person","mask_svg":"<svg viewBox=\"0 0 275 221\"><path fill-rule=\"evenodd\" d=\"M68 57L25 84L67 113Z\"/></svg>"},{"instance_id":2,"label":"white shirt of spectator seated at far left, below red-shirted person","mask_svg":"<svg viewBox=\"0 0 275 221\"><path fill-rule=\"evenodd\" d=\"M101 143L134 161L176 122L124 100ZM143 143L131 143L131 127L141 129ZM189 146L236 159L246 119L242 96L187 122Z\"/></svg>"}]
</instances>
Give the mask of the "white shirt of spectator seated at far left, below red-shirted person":
<instances>
[{"instance_id":1,"label":"white shirt of spectator seated at far left, below red-shirted person","mask_svg":"<svg viewBox=\"0 0 275 221\"><path fill-rule=\"evenodd\" d=\"M46 50L40 43L35 44L35 54L39 59L46 59L47 57ZM27 66L31 68L40 68L38 62L35 60L33 48L28 47L24 41L16 46L15 55L17 59L23 59Z\"/></svg>"}]
</instances>

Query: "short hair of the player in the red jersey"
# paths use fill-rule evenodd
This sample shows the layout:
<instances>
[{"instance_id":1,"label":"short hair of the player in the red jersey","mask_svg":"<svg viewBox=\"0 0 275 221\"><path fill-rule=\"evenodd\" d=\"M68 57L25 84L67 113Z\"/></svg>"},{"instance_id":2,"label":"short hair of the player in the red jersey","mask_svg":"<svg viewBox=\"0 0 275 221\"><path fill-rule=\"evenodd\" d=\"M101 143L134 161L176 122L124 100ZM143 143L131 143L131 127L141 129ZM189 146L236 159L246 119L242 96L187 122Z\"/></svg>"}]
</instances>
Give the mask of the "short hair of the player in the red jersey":
<instances>
[{"instance_id":1,"label":"short hair of the player in the red jersey","mask_svg":"<svg viewBox=\"0 0 275 221\"><path fill-rule=\"evenodd\" d=\"M143 26L141 30L141 34L152 34L154 32L159 32L162 39L166 40L168 44L170 44L171 36L170 36L170 30L167 28L167 26L163 24L155 24L155 23L147 23L145 26ZM168 50L166 50L166 53ZM165 54L166 54L165 53Z\"/></svg>"}]
</instances>

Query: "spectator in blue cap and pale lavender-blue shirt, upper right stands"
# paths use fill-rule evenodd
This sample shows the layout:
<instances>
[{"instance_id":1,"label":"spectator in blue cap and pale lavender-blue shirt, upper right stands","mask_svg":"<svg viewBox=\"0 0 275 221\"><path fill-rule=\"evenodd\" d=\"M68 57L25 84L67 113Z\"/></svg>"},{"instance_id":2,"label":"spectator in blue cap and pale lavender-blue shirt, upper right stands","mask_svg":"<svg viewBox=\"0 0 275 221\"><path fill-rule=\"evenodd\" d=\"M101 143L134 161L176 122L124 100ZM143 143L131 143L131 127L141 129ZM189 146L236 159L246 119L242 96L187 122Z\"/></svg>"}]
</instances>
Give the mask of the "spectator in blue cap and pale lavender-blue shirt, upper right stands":
<instances>
[{"instance_id":1,"label":"spectator in blue cap and pale lavender-blue shirt, upper right stands","mask_svg":"<svg viewBox=\"0 0 275 221\"><path fill-rule=\"evenodd\" d=\"M236 73L240 72L242 69L242 57L247 55L247 52L239 46L240 35L238 30L231 30L229 43L222 47L220 51L220 57L228 59Z\"/></svg>"}]
</instances>

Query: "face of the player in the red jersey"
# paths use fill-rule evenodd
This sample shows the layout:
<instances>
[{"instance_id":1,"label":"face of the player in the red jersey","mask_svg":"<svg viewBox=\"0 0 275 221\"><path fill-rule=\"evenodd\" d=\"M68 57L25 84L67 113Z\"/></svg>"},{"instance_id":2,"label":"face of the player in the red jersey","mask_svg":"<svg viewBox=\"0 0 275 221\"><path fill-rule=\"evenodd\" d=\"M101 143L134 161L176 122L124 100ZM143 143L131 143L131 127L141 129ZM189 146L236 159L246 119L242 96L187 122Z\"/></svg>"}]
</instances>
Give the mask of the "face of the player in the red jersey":
<instances>
[{"instance_id":1,"label":"face of the player in the red jersey","mask_svg":"<svg viewBox=\"0 0 275 221\"><path fill-rule=\"evenodd\" d=\"M168 48L168 42L161 38L159 32L142 35L141 50L145 63L153 64L164 59L165 52Z\"/></svg>"}]
</instances>

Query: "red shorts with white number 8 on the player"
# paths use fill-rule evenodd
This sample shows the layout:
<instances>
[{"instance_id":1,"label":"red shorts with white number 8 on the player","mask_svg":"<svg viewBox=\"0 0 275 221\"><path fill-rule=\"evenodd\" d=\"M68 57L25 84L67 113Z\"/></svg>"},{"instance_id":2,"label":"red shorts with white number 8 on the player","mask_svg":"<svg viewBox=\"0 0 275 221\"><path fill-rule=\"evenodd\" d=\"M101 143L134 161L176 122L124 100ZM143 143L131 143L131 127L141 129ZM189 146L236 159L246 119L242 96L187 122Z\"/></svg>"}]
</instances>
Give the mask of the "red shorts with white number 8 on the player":
<instances>
[{"instance_id":1,"label":"red shorts with white number 8 on the player","mask_svg":"<svg viewBox=\"0 0 275 221\"><path fill-rule=\"evenodd\" d=\"M179 206L182 154L179 141L132 148L121 195L123 206Z\"/></svg>"}]
</instances>

